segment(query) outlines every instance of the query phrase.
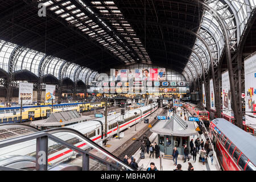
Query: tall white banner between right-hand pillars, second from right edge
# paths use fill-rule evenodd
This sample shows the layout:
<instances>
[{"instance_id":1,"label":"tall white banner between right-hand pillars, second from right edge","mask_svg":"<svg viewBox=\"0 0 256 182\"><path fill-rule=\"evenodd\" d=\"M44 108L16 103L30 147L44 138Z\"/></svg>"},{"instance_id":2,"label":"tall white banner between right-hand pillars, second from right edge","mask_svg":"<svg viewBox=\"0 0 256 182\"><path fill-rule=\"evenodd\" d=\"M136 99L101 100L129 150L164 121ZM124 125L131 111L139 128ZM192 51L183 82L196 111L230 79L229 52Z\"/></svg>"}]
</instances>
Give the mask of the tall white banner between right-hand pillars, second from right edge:
<instances>
[{"instance_id":1,"label":"tall white banner between right-hand pillars, second from right edge","mask_svg":"<svg viewBox=\"0 0 256 182\"><path fill-rule=\"evenodd\" d=\"M228 116L233 116L231 108L231 92L229 83L229 72L226 71L221 74L222 77L222 113Z\"/></svg>"}]
</instances>

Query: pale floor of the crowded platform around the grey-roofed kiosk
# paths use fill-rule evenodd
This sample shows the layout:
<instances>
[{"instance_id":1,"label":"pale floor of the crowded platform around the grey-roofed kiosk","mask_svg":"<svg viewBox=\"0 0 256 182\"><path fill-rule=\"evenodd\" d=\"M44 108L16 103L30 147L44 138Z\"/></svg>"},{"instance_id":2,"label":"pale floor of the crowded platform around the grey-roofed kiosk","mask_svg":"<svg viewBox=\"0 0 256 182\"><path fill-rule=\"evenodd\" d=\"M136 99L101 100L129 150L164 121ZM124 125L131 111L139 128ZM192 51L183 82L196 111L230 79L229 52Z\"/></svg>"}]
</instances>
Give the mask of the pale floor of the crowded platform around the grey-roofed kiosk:
<instances>
[{"instance_id":1,"label":"pale floor of the crowded platform around the grey-roofed kiosk","mask_svg":"<svg viewBox=\"0 0 256 182\"><path fill-rule=\"evenodd\" d=\"M172 114L171 114L172 115ZM182 119L184 119L184 114L181 117ZM197 123L194 122L195 127L197 127ZM157 134L156 133L152 133L149 137L150 142L151 143L158 143L158 138L157 138ZM200 135L194 135L194 136L190 136L189 140L191 140L193 138L193 140L195 141L195 139L199 137ZM206 141L204 135L201 135L200 140L203 139L204 142ZM188 146L189 147L189 146ZM190 153L190 147L189 147L189 153ZM174 166L174 161L172 160L172 157L170 158L170 155L168 156L164 156L163 152L160 152L160 158L162 159L155 159L155 152L154 152L154 158L150 158L150 153L147 154L145 153L145 158L141 159L141 150L138 150L135 154L134 154L134 158L136 159L138 166L142 167L144 170L146 170L148 167L150 167L150 163L154 162L155 163L155 167L160 171L173 171L174 169L176 169L176 166ZM210 162L210 158L208 158L208 163L205 162L205 165L203 165L202 162L199 162L199 156L200 156L200 151L199 154L196 155L196 162L193 161L193 156L191 156L189 154L189 161L188 159L186 160L186 162L184 163L184 160L182 160L183 155L179 155L177 158L177 164L181 164L181 169L183 171L188 171L188 162L190 162L192 164L192 166L194 167L194 171L218 171L218 167L217 167L217 163L216 161L213 159L213 164L211 164ZM192 157L192 158L191 158ZM168 158L168 159L167 159ZM162 160L162 167L160 167L160 160Z\"/></svg>"}]
</instances>

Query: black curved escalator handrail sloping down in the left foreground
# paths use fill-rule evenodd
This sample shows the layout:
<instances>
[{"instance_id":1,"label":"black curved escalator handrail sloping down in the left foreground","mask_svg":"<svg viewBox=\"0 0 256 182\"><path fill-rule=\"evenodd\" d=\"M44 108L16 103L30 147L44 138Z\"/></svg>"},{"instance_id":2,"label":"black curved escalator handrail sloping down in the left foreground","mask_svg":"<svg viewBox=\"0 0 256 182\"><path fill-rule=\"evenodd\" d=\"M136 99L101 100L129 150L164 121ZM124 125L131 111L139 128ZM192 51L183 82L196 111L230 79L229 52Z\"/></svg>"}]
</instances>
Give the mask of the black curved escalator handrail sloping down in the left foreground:
<instances>
[{"instance_id":1,"label":"black curved escalator handrail sloping down in the left foreground","mask_svg":"<svg viewBox=\"0 0 256 182\"><path fill-rule=\"evenodd\" d=\"M97 143L93 142L93 140L89 139L88 137L86 137L85 135L83 135L82 133L80 133L77 130L74 129L69 129L69 128L53 128L53 129L49 129L49 130L44 130L44 132L52 134L52 133L60 133L60 132L71 132L74 133L76 135L79 135L79 137L81 137L82 139L84 139L86 142L90 143L90 145L99 148L100 150L102 150L103 152L105 152L106 154L108 154L109 156L111 156L112 158L114 158L115 160L117 160L119 163L121 163L123 166L125 166L126 168L131 168L130 166L127 166L126 163L124 163L121 159L117 158L117 156L111 154L109 151L107 151L105 148L101 147L100 145L98 145Z\"/></svg>"}]
</instances>

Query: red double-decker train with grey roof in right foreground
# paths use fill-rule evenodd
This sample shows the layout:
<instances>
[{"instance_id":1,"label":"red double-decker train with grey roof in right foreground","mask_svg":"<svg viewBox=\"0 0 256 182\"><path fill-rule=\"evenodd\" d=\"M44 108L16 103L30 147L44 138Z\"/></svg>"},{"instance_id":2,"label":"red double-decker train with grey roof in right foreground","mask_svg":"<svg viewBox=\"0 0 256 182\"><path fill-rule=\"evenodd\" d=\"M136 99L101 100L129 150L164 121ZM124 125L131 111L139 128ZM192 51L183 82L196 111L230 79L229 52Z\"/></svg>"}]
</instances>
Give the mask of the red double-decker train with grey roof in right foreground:
<instances>
[{"instance_id":1,"label":"red double-decker train with grey roof in right foreground","mask_svg":"<svg viewBox=\"0 0 256 182\"><path fill-rule=\"evenodd\" d=\"M223 118L210 122L210 139L224 171L256 171L256 138Z\"/></svg>"}]
</instances>

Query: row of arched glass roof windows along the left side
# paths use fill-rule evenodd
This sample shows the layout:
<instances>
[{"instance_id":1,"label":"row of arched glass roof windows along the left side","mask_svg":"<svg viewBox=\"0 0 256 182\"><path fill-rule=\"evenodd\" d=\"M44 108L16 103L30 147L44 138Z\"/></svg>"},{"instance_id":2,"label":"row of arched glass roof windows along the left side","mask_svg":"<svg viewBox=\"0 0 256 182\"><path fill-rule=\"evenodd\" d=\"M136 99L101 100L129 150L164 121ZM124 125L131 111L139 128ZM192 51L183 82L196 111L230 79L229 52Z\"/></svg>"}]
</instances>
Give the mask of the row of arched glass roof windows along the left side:
<instances>
[{"instance_id":1,"label":"row of arched glass roof windows along the left side","mask_svg":"<svg viewBox=\"0 0 256 182\"><path fill-rule=\"evenodd\" d=\"M46 56L42 52L20 47L3 40L0 40L0 60L0 68L6 72L14 73L27 70L38 77L51 74L57 79L61 78L60 74L63 72L63 77L68 77L74 82L76 78L86 82L86 73L91 71L89 68L82 69L78 64L57 57ZM10 68L12 68L11 71L9 70ZM64 70L64 68L66 69ZM79 71L79 69L82 70ZM78 71L79 75L76 77ZM41 75L39 75L39 72ZM93 80L93 76L96 76L96 74L97 72L90 77L90 80Z\"/></svg>"}]
</instances>

